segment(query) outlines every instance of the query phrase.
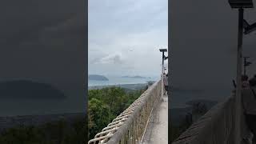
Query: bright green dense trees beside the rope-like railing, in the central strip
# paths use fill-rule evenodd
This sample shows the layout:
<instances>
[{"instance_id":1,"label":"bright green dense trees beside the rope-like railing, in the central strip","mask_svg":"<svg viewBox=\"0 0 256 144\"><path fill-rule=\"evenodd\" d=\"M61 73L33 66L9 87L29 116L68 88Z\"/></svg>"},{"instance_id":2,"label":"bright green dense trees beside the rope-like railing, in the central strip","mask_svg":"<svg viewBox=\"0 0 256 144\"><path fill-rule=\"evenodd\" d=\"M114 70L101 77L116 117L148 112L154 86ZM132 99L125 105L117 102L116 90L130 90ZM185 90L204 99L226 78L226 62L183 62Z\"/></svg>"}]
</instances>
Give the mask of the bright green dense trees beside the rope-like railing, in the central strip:
<instances>
[{"instance_id":1,"label":"bright green dense trees beside the rope-like railing, in the central strip","mask_svg":"<svg viewBox=\"0 0 256 144\"><path fill-rule=\"evenodd\" d=\"M125 90L120 87L106 87L89 90L88 128L89 138L107 126L114 118L126 110L143 92L143 90Z\"/></svg>"}]
</instances>

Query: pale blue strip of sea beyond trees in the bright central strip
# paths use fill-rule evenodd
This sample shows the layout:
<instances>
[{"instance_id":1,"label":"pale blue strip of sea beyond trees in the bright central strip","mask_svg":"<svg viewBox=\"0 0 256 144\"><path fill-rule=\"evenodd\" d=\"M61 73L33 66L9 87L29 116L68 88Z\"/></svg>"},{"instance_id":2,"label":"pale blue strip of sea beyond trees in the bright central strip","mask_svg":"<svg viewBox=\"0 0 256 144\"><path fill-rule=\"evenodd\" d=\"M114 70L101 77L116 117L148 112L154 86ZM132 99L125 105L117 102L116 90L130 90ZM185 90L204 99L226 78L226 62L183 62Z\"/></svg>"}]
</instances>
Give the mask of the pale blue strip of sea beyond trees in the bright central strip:
<instances>
[{"instance_id":1,"label":"pale blue strip of sea beyond trees in the bright central strip","mask_svg":"<svg viewBox=\"0 0 256 144\"><path fill-rule=\"evenodd\" d=\"M148 81L158 81L160 77L150 78L122 78L121 76L106 76L109 81L94 81L89 80L88 86L106 86L106 85L122 85L122 84L137 84L146 83Z\"/></svg>"}]
</instances>

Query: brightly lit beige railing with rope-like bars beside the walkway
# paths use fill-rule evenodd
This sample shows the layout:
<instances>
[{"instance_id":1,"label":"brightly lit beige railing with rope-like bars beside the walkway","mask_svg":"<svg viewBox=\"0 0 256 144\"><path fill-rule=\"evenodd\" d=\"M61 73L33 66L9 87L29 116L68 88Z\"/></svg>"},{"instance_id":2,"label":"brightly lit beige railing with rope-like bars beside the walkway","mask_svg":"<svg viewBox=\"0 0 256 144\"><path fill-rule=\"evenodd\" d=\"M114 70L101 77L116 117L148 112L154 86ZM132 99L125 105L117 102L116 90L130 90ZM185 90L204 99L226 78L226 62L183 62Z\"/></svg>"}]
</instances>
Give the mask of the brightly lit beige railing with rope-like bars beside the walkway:
<instances>
[{"instance_id":1,"label":"brightly lit beige railing with rope-like bars beside the walkway","mask_svg":"<svg viewBox=\"0 0 256 144\"><path fill-rule=\"evenodd\" d=\"M150 113L161 97L161 81L150 86L122 114L95 135L89 144L138 144L146 129Z\"/></svg>"}]
</instances>

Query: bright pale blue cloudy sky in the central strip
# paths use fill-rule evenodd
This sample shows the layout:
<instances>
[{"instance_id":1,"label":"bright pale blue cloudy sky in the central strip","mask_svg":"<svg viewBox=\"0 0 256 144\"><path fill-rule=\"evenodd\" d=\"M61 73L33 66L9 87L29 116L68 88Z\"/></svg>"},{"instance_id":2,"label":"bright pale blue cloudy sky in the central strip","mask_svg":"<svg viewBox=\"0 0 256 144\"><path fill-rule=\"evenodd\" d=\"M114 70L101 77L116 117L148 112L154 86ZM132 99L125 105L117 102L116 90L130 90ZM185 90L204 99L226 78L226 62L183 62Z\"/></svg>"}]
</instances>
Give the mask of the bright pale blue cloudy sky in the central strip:
<instances>
[{"instance_id":1,"label":"bright pale blue cloudy sky in the central strip","mask_svg":"<svg viewBox=\"0 0 256 144\"><path fill-rule=\"evenodd\" d=\"M89 74L161 74L167 0L89 0L88 10Z\"/></svg>"}]
</instances>

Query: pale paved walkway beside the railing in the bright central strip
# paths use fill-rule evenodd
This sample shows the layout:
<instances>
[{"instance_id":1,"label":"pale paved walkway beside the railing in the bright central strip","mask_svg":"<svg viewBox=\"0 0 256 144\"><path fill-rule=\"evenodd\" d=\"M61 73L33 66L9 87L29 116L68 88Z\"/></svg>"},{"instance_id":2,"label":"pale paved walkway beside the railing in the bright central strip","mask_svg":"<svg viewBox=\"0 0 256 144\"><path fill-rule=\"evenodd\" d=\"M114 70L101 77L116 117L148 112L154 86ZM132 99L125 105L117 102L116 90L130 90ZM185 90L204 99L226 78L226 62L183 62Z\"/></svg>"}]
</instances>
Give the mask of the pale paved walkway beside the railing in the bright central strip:
<instances>
[{"instance_id":1,"label":"pale paved walkway beside the railing in the bright central strip","mask_svg":"<svg viewBox=\"0 0 256 144\"><path fill-rule=\"evenodd\" d=\"M168 143L168 96L155 106L146 128L142 144Z\"/></svg>"}]
</instances>

